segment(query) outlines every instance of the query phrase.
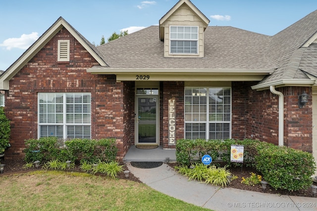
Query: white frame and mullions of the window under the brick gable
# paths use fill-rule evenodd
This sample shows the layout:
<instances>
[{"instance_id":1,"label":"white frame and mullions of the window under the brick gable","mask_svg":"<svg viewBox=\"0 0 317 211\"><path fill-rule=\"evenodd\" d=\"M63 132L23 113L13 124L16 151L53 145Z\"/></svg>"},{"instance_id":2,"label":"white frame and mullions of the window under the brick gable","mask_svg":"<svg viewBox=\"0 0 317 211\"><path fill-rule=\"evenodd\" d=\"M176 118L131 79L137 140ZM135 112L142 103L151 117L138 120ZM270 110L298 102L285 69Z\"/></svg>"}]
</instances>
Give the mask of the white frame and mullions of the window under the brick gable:
<instances>
[{"instance_id":1,"label":"white frame and mullions of the window under the brick gable","mask_svg":"<svg viewBox=\"0 0 317 211\"><path fill-rule=\"evenodd\" d=\"M80 125L80 126L90 126L91 127L91 113L90 113L90 123L67 123L67 112L66 112L66 94L89 94L91 96L91 93L56 93L56 94L62 94L63 95L63 123L41 123L40 121L40 94L52 94L52 93L39 93L38 94L38 138L41 137L41 125L62 125L63 126L63 139L68 139L67 137L67 126L74 126L74 125ZM91 109L91 102L90 102L90 109ZM90 138L91 138L91 128L90 128Z\"/></svg>"}]
</instances>

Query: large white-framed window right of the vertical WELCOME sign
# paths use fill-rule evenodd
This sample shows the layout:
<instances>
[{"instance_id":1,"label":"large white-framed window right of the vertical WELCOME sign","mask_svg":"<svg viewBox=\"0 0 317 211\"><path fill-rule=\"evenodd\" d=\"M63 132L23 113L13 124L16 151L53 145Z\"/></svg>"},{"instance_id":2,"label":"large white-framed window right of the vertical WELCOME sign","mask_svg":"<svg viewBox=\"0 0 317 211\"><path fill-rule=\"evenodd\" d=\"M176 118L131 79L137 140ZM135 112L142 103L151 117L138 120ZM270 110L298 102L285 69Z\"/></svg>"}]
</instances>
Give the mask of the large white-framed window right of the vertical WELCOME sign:
<instances>
[{"instance_id":1,"label":"large white-framed window right of the vertical WELCOME sign","mask_svg":"<svg viewBox=\"0 0 317 211\"><path fill-rule=\"evenodd\" d=\"M185 138L231 137L231 88L185 88Z\"/></svg>"}]
</instances>

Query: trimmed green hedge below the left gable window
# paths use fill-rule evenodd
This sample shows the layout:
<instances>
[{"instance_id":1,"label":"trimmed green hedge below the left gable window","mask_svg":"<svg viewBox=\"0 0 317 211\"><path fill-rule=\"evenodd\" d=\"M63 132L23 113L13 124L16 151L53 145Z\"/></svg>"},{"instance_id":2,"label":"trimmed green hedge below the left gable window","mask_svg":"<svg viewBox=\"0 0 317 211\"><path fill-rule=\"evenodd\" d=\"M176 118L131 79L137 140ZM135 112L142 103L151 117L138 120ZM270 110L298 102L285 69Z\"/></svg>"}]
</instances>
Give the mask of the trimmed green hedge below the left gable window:
<instances>
[{"instance_id":1,"label":"trimmed green hedge below the left gable window","mask_svg":"<svg viewBox=\"0 0 317 211\"><path fill-rule=\"evenodd\" d=\"M118 152L115 139L72 139L60 143L56 137L45 137L25 140L25 145L26 162L47 162L54 159L109 162L115 160Z\"/></svg>"}]
</instances>

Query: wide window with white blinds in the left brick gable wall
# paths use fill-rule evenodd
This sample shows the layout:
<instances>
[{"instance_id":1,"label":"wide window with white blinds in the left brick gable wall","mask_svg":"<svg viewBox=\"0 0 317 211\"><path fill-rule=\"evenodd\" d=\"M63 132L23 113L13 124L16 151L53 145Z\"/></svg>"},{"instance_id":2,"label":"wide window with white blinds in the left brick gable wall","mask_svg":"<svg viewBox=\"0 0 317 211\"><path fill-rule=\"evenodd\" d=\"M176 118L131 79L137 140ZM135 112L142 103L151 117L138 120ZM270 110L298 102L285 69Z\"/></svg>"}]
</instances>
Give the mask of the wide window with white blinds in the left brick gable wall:
<instances>
[{"instance_id":1,"label":"wide window with white blinds in the left brick gable wall","mask_svg":"<svg viewBox=\"0 0 317 211\"><path fill-rule=\"evenodd\" d=\"M39 93L39 137L91 138L90 93Z\"/></svg>"}]
</instances>

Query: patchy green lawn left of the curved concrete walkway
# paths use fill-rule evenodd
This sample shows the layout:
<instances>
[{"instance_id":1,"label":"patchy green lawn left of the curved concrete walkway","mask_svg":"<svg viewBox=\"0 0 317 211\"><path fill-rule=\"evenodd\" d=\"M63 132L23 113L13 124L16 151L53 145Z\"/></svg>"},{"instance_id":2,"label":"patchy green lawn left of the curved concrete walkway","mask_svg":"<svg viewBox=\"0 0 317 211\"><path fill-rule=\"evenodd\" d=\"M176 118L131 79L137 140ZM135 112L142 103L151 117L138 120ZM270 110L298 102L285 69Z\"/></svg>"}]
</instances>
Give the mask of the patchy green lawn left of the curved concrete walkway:
<instances>
[{"instance_id":1,"label":"patchy green lawn left of the curved concrete walkway","mask_svg":"<svg viewBox=\"0 0 317 211\"><path fill-rule=\"evenodd\" d=\"M142 183L87 173L39 170L0 177L5 211L207 211Z\"/></svg>"}]
</instances>

